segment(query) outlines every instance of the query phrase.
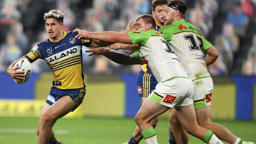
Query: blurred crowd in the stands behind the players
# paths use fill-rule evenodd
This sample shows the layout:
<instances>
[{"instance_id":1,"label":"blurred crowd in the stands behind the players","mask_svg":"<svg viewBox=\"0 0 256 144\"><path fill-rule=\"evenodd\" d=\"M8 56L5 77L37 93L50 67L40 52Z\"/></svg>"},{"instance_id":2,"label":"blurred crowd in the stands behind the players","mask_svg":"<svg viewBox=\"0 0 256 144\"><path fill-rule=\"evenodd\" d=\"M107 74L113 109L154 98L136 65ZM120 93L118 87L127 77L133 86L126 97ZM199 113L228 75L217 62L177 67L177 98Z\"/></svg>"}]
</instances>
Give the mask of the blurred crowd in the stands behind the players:
<instances>
[{"instance_id":1,"label":"blurred crowd in the stands behind the players","mask_svg":"<svg viewBox=\"0 0 256 144\"><path fill-rule=\"evenodd\" d=\"M152 0L0 0L0 72L39 42L48 39L44 13L64 13L63 31L122 31L131 20L151 14ZM213 76L256 75L256 0L183 0L186 21L202 31L219 52L208 66ZM83 69L89 74L137 74L140 65L116 64L102 55L88 56L83 47ZM119 50L126 54L133 51ZM33 72L50 71L44 60Z\"/></svg>"}]
</instances>

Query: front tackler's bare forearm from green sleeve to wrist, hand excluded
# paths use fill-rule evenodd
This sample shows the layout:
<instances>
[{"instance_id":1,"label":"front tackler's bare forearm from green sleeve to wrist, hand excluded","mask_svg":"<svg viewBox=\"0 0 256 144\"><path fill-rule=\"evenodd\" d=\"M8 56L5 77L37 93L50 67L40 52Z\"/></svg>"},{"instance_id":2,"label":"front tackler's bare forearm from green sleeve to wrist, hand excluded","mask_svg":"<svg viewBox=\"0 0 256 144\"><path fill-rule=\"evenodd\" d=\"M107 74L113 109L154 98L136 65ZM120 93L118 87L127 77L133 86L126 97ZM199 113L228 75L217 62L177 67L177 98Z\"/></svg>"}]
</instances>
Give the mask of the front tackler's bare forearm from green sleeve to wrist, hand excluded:
<instances>
[{"instance_id":1,"label":"front tackler's bare forearm from green sleeve to wrist, hand excluded","mask_svg":"<svg viewBox=\"0 0 256 144\"><path fill-rule=\"evenodd\" d=\"M91 39L97 39L99 41L132 44L130 37L126 33L118 33L114 31L88 32L87 36Z\"/></svg>"}]
</instances>

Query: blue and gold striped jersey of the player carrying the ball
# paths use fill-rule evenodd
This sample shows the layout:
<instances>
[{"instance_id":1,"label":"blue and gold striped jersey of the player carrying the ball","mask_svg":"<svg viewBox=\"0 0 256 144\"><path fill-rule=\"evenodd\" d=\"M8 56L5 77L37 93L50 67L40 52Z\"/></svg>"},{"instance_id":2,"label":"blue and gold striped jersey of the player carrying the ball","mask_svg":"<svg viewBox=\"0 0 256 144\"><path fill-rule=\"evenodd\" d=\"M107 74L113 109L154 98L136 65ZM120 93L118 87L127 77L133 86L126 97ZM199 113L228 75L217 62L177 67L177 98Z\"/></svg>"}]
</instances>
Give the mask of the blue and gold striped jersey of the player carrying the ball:
<instances>
[{"instance_id":1,"label":"blue and gold striped jersey of the player carrying the ball","mask_svg":"<svg viewBox=\"0 0 256 144\"><path fill-rule=\"evenodd\" d=\"M25 57L32 63L45 59L54 76L53 86L58 89L79 89L83 83L82 46L90 46L92 39L74 39L78 33L65 32L61 39L51 38L34 46Z\"/></svg>"}]
</instances>

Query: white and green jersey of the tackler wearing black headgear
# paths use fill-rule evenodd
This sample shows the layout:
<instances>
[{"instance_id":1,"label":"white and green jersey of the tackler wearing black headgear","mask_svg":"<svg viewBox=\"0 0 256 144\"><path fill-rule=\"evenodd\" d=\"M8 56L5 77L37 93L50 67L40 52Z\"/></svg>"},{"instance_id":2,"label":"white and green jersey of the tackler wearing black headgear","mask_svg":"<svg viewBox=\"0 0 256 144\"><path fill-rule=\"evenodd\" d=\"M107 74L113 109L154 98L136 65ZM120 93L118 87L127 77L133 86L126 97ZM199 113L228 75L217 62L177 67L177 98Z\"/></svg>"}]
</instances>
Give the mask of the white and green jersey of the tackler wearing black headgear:
<instances>
[{"instance_id":1,"label":"white and green jersey of the tackler wearing black headgear","mask_svg":"<svg viewBox=\"0 0 256 144\"><path fill-rule=\"evenodd\" d=\"M160 29L166 41L176 52L180 63L189 78L195 79L210 77L205 63L204 52L212 46L202 32L184 19L177 20Z\"/></svg>"}]
</instances>

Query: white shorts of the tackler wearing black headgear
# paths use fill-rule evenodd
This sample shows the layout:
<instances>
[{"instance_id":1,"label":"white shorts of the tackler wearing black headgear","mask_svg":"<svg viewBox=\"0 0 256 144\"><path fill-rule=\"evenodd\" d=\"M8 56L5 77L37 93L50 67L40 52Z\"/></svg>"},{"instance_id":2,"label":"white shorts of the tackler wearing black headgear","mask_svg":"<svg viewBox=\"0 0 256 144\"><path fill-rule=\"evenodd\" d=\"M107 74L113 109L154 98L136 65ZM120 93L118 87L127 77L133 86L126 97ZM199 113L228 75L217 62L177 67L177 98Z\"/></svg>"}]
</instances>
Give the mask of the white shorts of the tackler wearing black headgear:
<instances>
[{"instance_id":1,"label":"white shorts of the tackler wearing black headgear","mask_svg":"<svg viewBox=\"0 0 256 144\"><path fill-rule=\"evenodd\" d=\"M195 109L211 105L211 93L213 91L213 81L211 77L197 79L193 81L193 84L193 101Z\"/></svg>"}]
</instances>

